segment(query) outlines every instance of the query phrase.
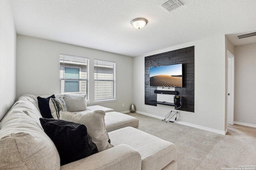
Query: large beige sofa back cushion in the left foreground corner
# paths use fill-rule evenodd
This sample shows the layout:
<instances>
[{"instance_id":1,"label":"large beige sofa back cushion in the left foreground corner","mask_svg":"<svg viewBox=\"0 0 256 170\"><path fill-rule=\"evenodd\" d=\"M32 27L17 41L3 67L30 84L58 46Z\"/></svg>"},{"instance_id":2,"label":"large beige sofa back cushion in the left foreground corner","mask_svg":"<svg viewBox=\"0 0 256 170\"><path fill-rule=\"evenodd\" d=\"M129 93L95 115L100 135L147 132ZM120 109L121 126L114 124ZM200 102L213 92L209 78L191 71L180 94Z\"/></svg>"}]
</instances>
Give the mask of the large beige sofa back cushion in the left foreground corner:
<instances>
[{"instance_id":1,"label":"large beige sofa back cushion in the left foreground corner","mask_svg":"<svg viewBox=\"0 0 256 170\"><path fill-rule=\"evenodd\" d=\"M2 122L0 169L60 169L54 143L27 114L13 108Z\"/></svg>"}]
</instances>

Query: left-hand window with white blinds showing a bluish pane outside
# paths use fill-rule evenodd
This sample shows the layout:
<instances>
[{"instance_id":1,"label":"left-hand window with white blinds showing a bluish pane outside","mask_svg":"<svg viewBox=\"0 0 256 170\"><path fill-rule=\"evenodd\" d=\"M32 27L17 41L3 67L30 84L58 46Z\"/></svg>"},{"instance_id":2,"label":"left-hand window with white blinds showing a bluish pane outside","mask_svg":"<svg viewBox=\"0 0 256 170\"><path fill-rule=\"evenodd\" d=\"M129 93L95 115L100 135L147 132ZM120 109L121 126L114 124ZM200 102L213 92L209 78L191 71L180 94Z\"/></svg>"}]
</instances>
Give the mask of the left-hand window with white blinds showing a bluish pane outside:
<instances>
[{"instance_id":1,"label":"left-hand window with white blinds showing a bluish pane outside","mask_svg":"<svg viewBox=\"0 0 256 170\"><path fill-rule=\"evenodd\" d=\"M86 94L88 101L89 59L60 54L60 94Z\"/></svg>"}]
</instances>

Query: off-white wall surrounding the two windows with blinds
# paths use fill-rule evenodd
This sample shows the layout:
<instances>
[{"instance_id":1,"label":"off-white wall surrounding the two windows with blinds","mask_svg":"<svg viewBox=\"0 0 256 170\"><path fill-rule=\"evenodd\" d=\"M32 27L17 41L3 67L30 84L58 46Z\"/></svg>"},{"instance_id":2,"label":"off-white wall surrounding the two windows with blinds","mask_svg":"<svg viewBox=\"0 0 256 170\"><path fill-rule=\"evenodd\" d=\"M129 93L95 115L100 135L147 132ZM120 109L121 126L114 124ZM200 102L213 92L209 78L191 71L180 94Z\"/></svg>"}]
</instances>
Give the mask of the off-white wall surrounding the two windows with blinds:
<instances>
[{"instance_id":1,"label":"off-white wall surrounding the two windows with blinds","mask_svg":"<svg viewBox=\"0 0 256 170\"><path fill-rule=\"evenodd\" d=\"M89 58L89 100L94 100L94 59L116 62L116 102L100 103L115 111L128 111L132 104L132 57L88 49L24 35L17 36L17 95L59 94L61 54ZM124 104L125 107L122 107Z\"/></svg>"}]
</instances>

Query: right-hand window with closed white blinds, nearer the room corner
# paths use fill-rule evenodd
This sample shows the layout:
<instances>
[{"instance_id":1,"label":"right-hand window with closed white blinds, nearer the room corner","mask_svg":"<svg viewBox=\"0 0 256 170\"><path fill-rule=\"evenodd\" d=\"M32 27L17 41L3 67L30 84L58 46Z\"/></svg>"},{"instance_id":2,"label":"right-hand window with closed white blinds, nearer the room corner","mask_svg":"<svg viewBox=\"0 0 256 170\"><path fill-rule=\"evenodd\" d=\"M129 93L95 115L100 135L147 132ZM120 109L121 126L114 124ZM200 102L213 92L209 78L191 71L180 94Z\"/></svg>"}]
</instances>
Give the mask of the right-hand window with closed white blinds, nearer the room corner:
<instances>
[{"instance_id":1,"label":"right-hand window with closed white blinds, nearer the room corner","mask_svg":"<svg viewBox=\"0 0 256 170\"><path fill-rule=\"evenodd\" d=\"M116 63L94 60L94 100L116 99Z\"/></svg>"}]
</instances>

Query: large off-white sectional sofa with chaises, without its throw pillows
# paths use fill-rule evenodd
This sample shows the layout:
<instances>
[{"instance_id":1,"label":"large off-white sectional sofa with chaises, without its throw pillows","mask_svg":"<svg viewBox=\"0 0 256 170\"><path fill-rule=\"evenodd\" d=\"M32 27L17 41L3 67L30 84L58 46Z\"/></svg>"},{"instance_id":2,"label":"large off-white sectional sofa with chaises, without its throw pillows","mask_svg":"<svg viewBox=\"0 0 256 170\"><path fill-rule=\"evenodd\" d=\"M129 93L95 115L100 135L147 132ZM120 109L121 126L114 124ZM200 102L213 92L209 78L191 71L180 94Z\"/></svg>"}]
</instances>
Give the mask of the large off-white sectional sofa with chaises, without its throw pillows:
<instances>
[{"instance_id":1,"label":"large off-white sectional sofa with chaises, without its throw pillows","mask_svg":"<svg viewBox=\"0 0 256 170\"><path fill-rule=\"evenodd\" d=\"M63 96L55 95L55 97ZM108 145L111 147L61 165L57 145L41 125L42 115L38 107L37 96L21 96L0 122L0 169L177 169L175 145L136 129L138 128L138 119L102 106L87 106L85 111L78 111L75 115L81 115L80 113L84 113L86 116L105 114L103 122L106 123L108 131L106 134L110 139L108 142L111 141ZM47 120L52 121L53 119ZM91 122L92 125L93 123ZM100 125L95 124L95 126ZM90 141L93 138L88 139Z\"/></svg>"}]
</instances>

